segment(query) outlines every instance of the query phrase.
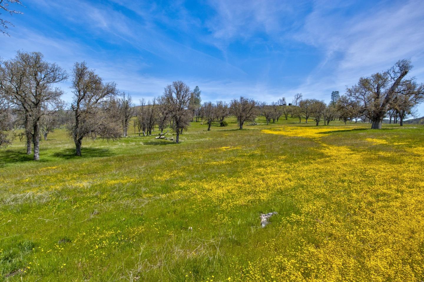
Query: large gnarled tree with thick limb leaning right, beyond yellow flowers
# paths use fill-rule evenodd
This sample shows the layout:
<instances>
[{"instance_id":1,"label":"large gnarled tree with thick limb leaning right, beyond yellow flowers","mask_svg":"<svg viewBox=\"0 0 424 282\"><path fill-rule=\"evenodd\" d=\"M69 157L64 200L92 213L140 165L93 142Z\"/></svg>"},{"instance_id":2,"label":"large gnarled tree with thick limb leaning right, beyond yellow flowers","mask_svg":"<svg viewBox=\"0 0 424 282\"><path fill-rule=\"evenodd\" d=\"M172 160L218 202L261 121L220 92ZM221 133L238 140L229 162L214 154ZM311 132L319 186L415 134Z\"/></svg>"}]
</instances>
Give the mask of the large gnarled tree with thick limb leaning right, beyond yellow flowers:
<instances>
[{"instance_id":1,"label":"large gnarled tree with thick limb leaning right, beyond yellow flowers","mask_svg":"<svg viewBox=\"0 0 424 282\"><path fill-rule=\"evenodd\" d=\"M372 129L381 128L396 89L412 67L410 60L399 60L387 71L361 77L356 85L346 89L346 95L350 98L348 101L354 100L360 104L361 113L372 121Z\"/></svg>"}]
</instances>

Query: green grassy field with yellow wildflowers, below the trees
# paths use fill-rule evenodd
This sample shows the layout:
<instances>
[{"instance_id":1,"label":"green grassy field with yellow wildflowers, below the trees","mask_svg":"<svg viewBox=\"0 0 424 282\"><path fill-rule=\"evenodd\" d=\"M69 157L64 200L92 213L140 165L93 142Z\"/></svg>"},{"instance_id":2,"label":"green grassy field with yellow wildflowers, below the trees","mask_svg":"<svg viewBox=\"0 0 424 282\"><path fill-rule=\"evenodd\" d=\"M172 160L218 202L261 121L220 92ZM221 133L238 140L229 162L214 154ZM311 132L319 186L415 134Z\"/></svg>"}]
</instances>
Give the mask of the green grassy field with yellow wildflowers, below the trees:
<instances>
[{"instance_id":1,"label":"green grassy field with yellow wildflowers, below the trees","mask_svg":"<svg viewBox=\"0 0 424 282\"><path fill-rule=\"evenodd\" d=\"M424 126L258 123L1 149L0 280L424 279Z\"/></svg>"}]
</instances>

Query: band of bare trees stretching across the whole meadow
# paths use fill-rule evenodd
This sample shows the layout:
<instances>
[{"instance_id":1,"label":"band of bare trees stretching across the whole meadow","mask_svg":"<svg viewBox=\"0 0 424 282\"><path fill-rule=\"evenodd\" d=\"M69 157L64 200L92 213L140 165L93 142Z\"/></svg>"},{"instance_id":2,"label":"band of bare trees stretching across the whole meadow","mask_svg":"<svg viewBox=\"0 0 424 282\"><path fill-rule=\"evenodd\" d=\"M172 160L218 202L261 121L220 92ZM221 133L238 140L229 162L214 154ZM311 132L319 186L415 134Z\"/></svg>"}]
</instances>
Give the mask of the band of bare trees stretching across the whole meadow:
<instances>
[{"instance_id":1,"label":"band of bare trees stretching across the whole meadow","mask_svg":"<svg viewBox=\"0 0 424 282\"><path fill-rule=\"evenodd\" d=\"M370 122L371 128L381 128L386 116L390 122L414 114L414 108L424 100L424 86L415 78L404 77L412 68L410 61L398 61L391 69L370 77L361 77L358 83L346 88L340 96L333 91L331 102L303 99L295 95L287 105L284 97L270 104L247 97L201 103L201 90L193 91L182 81L174 81L164 88L161 96L152 100L141 99L135 106L132 97L117 89L116 83L105 82L85 62L75 63L68 73L55 63L44 60L39 52L21 52L10 60L0 60L0 147L15 137L25 139L27 154L39 160L40 137L59 126L67 128L75 143L75 155L81 155L84 138L116 139L127 137L131 125L134 133L152 135L158 128L159 138L169 128L180 142L180 134L190 122L202 122L211 129L212 123L226 126L225 118L234 116L239 129L246 122L255 123L264 116L266 123L278 122L288 116L316 125L329 124L335 119L343 122ZM64 91L57 87L71 81L72 102L61 100ZM132 121L132 124L130 122ZM169 132L167 130L167 132Z\"/></svg>"}]
</instances>

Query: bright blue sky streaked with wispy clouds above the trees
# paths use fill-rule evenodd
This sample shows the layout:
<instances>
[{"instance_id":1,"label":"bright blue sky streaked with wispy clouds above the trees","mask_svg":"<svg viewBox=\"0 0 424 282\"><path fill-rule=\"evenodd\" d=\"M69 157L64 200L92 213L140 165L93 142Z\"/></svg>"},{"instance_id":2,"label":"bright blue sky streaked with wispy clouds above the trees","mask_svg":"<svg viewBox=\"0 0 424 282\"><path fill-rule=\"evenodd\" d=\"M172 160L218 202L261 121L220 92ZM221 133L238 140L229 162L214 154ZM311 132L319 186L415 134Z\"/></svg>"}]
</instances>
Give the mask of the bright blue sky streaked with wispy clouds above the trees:
<instances>
[{"instance_id":1,"label":"bright blue sky streaked with wispy clouds above the trees","mask_svg":"<svg viewBox=\"0 0 424 282\"><path fill-rule=\"evenodd\" d=\"M138 100L173 80L202 100L330 99L410 58L424 82L424 1L22 0L0 56L40 51L70 70L86 61ZM70 83L61 87L71 100ZM424 115L424 105L419 108Z\"/></svg>"}]
</instances>

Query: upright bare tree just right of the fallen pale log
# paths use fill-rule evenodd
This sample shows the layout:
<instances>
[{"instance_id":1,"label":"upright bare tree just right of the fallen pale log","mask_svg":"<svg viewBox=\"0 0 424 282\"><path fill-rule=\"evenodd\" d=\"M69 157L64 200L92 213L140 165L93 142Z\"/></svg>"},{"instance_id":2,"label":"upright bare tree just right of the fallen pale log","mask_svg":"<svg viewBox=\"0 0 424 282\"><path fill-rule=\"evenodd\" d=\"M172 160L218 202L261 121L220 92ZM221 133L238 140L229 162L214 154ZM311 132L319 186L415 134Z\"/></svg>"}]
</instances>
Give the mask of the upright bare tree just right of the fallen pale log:
<instances>
[{"instance_id":1,"label":"upright bare tree just right of the fallen pale log","mask_svg":"<svg viewBox=\"0 0 424 282\"><path fill-rule=\"evenodd\" d=\"M187 128L190 124L190 87L182 81L174 81L172 84L165 87L163 99L167 111L172 121L173 130L176 132L175 142L179 143L180 131Z\"/></svg>"}]
</instances>

